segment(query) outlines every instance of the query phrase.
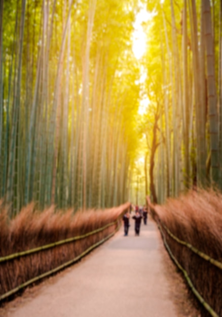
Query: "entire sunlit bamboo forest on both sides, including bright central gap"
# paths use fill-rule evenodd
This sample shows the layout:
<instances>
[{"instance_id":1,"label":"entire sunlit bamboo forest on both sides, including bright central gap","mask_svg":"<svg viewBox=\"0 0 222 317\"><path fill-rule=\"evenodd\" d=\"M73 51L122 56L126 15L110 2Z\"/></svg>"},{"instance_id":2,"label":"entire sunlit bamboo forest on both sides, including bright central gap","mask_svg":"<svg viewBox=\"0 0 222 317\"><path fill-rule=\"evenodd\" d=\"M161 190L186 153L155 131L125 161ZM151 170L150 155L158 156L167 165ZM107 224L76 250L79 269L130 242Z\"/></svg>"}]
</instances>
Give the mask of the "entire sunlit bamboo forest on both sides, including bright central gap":
<instances>
[{"instance_id":1,"label":"entire sunlit bamboo forest on both sides, including bright central gap","mask_svg":"<svg viewBox=\"0 0 222 317\"><path fill-rule=\"evenodd\" d=\"M217 0L1 0L11 216L30 202L104 209L220 190L221 11Z\"/></svg>"}]
</instances>

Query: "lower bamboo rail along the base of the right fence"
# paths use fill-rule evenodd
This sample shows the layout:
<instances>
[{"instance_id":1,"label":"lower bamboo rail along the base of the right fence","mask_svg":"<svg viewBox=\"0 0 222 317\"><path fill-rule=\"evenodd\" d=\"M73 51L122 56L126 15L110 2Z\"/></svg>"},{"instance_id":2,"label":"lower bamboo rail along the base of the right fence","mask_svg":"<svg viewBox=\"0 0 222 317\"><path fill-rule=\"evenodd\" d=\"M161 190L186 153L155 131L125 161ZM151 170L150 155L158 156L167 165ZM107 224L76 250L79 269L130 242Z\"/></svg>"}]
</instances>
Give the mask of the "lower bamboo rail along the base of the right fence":
<instances>
[{"instance_id":1,"label":"lower bamboo rail along the base of the right fence","mask_svg":"<svg viewBox=\"0 0 222 317\"><path fill-rule=\"evenodd\" d=\"M161 231L161 234L162 234L162 237L163 237L163 242L164 242L164 245L170 255L170 257L172 258L172 260L174 261L174 263L176 264L176 266L182 271L183 275L184 275L184 278L186 279L187 283L189 284L192 292L195 294L195 296L197 297L197 299L200 301L200 303L205 307L205 309L209 312L209 314L212 316L212 317L219 317L219 315L213 310L212 307L210 307L210 305L204 300L204 298L200 295L200 293L197 291L197 289L194 287L187 271L179 264L179 262L177 261L177 259L174 257L174 255L172 254L171 250L170 250L170 247L168 246L167 242L166 242L166 237L165 237L165 234L162 230L162 227L161 227L161 224L160 223L157 223L160 231Z\"/></svg>"}]
</instances>

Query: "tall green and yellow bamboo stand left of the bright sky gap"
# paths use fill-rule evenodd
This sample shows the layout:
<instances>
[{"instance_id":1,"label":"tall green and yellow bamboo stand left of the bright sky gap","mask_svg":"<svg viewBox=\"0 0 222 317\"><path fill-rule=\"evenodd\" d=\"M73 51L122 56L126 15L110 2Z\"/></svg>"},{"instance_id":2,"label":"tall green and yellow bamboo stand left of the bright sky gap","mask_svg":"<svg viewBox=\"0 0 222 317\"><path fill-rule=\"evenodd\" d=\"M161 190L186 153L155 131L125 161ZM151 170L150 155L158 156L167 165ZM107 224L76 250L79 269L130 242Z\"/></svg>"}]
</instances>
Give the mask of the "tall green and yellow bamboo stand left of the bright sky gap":
<instances>
[{"instance_id":1,"label":"tall green and yellow bamboo stand left of the bright sky gap","mask_svg":"<svg viewBox=\"0 0 222 317\"><path fill-rule=\"evenodd\" d=\"M12 215L32 200L76 209L127 200L138 145L132 32L139 4L97 1L95 16L92 6L27 0L22 14L19 1L4 2L0 189Z\"/></svg>"}]
</instances>

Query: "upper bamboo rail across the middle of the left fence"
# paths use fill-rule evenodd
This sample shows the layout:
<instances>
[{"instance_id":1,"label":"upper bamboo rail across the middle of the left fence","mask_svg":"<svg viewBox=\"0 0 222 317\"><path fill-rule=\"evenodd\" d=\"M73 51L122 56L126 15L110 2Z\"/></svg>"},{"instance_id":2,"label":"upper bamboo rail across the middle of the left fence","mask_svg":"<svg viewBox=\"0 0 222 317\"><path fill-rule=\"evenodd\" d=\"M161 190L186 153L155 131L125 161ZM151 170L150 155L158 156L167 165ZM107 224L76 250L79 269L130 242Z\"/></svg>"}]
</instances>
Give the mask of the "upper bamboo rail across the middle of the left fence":
<instances>
[{"instance_id":1,"label":"upper bamboo rail across the middle of the left fence","mask_svg":"<svg viewBox=\"0 0 222 317\"><path fill-rule=\"evenodd\" d=\"M106 228L108 228L108 227L110 227L112 225L115 225L117 223L118 219L116 221L110 222L110 223L106 224L105 226L103 226L101 228L98 228L96 230L93 230L91 232L88 232L86 234L73 236L73 237L70 237L70 238L67 238L67 239L64 239L64 240L60 240L60 241L57 241L57 242L50 243L50 244L45 245L45 246L33 248L33 249L30 249L30 250L27 250L27 251L21 251L21 252L13 253L13 254L10 254L10 255L7 255L7 256L4 256L4 257L0 257L0 263L6 262L6 261L9 261L9 260L13 260L13 259L21 257L21 256L25 256L25 255L29 255L29 254L32 254L32 253L40 252L40 251L43 251L43 250L51 249L51 248L54 248L54 247L57 247L57 246L61 246L63 244L70 243L70 242L73 242L73 241L76 241L76 240L84 239L85 237L87 237L89 235L98 233L98 232L103 231L104 229L106 229Z\"/></svg>"}]
</instances>

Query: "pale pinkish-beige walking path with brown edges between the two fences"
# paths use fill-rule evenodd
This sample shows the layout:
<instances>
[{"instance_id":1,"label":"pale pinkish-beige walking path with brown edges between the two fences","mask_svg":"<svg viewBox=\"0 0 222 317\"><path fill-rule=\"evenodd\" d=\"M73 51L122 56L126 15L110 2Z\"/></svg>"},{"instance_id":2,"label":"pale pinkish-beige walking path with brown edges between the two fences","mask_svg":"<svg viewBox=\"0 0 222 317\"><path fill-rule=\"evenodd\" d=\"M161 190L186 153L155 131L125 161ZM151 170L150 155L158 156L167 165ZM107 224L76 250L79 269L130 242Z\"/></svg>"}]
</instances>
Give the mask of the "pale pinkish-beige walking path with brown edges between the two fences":
<instances>
[{"instance_id":1,"label":"pale pinkish-beige walking path with brown edges between the two fences","mask_svg":"<svg viewBox=\"0 0 222 317\"><path fill-rule=\"evenodd\" d=\"M0 308L1 317L200 317L156 224L108 242Z\"/></svg>"}]
</instances>

